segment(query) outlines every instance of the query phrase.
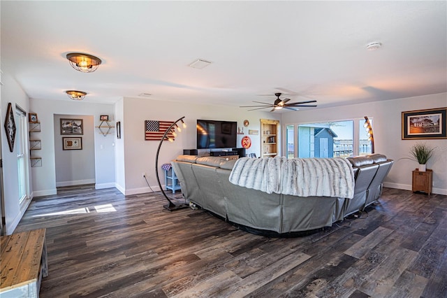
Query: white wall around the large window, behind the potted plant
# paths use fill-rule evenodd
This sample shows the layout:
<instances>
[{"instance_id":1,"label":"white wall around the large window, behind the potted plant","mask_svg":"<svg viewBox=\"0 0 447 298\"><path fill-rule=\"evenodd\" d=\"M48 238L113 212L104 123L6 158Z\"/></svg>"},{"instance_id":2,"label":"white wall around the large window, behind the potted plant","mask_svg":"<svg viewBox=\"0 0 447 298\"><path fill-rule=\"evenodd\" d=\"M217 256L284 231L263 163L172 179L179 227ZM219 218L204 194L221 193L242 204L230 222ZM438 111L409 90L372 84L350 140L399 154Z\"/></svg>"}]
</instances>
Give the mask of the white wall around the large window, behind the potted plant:
<instances>
[{"instance_id":1,"label":"white wall around the large window, behind the potted plant","mask_svg":"<svg viewBox=\"0 0 447 298\"><path fill-rule=\"evenodd\" d=\"M433 170L433 192L447 194L447 139L402 140L402 111L415 111L447 106L447 93L375 101L369 104L353 104L314 111L296 111L282 115L282 125L322 121L339 121L368 116L373 119L374 147L376 153L394 159L393 168L384 185L411 190L411 173L418 167L409 159L409 149L418 141L436 147L427 168Z\"/></svg>"}]
</instances>

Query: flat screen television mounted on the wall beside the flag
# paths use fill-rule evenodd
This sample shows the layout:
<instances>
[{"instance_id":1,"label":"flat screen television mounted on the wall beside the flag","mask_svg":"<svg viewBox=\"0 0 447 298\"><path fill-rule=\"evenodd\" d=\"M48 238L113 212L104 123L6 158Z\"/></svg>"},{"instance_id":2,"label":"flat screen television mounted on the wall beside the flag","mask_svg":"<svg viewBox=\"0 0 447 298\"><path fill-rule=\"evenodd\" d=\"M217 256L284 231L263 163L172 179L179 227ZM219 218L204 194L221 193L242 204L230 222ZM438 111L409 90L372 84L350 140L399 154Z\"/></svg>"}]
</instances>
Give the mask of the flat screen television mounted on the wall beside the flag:
<instances>
[{"instance_id":1,"label":"flat screen television mounted on the wall beside the flag","mask_svg":"<svg viewBox=\"0 0 447 298\"><path fill-rule=\"evenodd\" d=\"M235 148L237 122L197 120L197 149Z\"/></svg>"}]
</instances>

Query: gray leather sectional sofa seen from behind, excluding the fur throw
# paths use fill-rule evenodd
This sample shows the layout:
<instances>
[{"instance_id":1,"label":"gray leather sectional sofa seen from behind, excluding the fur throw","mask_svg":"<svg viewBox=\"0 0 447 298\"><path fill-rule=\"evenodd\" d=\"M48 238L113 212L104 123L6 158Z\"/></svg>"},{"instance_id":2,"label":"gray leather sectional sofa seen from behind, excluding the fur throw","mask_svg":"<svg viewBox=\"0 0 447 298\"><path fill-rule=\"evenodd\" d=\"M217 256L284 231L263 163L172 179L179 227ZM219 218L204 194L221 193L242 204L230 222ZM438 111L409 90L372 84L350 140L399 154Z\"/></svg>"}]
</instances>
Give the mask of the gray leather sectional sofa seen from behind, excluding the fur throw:
<instances>
[{"instance_id":1,"label":"gray leather sectional sofa seen from behind, excluding the fur throw","mask_svg":"<svg viewBox=\"0 0 447 298\"><path fill-rule=\"evenodd\" d=\"M247 158L247 157L243 157ZM179 155L173 168L186 199L254 234L300 236L329 227L379 199L393 165L384 155L350 157L354 196L298 197L261 192L230 183L236 160Z\"/></svg>"}]
</instances>

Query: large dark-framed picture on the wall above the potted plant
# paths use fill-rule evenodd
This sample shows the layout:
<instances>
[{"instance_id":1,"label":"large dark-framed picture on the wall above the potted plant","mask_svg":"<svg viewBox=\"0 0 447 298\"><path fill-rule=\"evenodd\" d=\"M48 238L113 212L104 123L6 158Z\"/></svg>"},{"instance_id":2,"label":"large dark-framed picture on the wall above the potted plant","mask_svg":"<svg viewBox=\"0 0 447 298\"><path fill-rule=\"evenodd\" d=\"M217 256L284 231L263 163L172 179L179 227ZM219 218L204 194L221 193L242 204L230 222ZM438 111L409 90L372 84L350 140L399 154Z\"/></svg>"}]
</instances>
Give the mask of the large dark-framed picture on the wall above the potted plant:
<instances>
[{"instance_id":1,"label":"large dark-framed picture on the wall above the potted plant","mask_svg":"<svg viewBox=\"0 0 447 298\"><path fill-rule=\"evenodd\" d=\"M447 139L447 108L402 112L402 140Z\"/></svg>"}]
</instances>

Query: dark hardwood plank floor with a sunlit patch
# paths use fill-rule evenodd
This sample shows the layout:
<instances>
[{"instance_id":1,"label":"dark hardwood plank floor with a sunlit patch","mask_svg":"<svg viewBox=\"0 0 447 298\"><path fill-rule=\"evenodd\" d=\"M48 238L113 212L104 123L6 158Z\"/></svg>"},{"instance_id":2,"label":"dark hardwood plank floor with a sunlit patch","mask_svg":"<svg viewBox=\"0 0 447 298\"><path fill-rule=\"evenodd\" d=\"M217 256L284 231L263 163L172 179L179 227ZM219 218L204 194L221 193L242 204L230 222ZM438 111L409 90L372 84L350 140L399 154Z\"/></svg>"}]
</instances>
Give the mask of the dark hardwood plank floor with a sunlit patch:
<instances>
[{"instance_id":1,"label":"dark hardwood plank floor with a sunlit patch","mask_svg":"<svg viewBox=\"0 0 447 298\"><path fill-rule=\"evenodd\" d=\"M447 197L386 188L311 236L242 232L160 194L66 187L17 232L47 228L41 297L447 297Z\"/></svg>"}]
</instances>

